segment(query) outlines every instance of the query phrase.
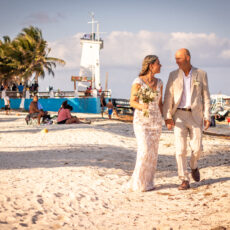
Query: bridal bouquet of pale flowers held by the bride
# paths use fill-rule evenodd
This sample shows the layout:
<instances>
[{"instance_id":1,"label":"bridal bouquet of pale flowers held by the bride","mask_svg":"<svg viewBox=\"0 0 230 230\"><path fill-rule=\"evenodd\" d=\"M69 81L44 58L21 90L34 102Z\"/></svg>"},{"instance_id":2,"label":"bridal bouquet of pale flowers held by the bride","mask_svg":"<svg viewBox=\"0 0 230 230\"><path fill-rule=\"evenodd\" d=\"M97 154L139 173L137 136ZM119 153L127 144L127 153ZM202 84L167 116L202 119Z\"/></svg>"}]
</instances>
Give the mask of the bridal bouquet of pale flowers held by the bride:
<instances>
[{"instance_id":1,"label":"bridal bouquet of pale flowers held by the bride","mask_svg":"<svg viewBox=\"0 0 230 230\"><path fill-rule=\"evenodd\" d=\"M140 87L137 91L137 94L135 96L138 97L139 101L142 101L145 104L149 104L149 102L152 102L155 100L155 98L158 96L158 91L154 91L152 89L148 88L142 88ZM143 110L144 117L149 117L149 110L144 109Z\"/></svg>"}]
</instances>

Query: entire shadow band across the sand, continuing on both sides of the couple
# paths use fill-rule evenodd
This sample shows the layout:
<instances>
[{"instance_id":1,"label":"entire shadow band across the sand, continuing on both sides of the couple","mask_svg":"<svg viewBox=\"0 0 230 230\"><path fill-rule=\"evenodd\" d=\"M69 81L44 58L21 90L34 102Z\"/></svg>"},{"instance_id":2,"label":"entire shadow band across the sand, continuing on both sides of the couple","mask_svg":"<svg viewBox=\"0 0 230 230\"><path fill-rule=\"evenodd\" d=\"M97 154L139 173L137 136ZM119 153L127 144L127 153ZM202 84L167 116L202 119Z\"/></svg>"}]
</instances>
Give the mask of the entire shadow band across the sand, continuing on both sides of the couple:
<instances>
[{"instance_id":1,"label":"entire shadow band across the sand, continuing on both sides of the couple","mask_svg":"<svg viewBox=\"0 0 230 230\"><path fill-rule=\"evenodd\" d=\"M37 150L33 151L30 148L26 151L0 152L0 169L96 166L122 169L129 173L133 171L136 161L135 151L111 145L59 145L49 150L36 146ZM222 161L217 161L217 158ZM226 152L205 156L200 161L201 168L215 167L229 165L230 157ZM175 156L158 155L157 171L164 172L164 176L177 175Z\"/></svg>"}]
</instances>

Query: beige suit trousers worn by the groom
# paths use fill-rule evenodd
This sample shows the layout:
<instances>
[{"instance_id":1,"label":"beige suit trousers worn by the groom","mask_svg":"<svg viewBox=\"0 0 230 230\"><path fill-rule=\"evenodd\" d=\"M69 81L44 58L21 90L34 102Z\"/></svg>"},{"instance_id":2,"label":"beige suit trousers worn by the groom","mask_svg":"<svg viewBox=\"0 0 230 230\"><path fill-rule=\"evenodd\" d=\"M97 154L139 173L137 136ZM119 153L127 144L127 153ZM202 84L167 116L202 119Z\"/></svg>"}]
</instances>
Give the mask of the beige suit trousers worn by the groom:
<instances>
[{"instance_id":1,"label":"beige suit trousers worn by the groom","mask_svg":"<svg viewBox=\"0 0 230 230\"><path fill-rule=\"evenodd\" d=\"M181 180L190 180L187 171L187 138L191 148L190 167L197 168L197 161L202 151L202 124L197 124L191 111L177 110L174 115L174 137L178 176Z\"/></svg>"}]
</instances>

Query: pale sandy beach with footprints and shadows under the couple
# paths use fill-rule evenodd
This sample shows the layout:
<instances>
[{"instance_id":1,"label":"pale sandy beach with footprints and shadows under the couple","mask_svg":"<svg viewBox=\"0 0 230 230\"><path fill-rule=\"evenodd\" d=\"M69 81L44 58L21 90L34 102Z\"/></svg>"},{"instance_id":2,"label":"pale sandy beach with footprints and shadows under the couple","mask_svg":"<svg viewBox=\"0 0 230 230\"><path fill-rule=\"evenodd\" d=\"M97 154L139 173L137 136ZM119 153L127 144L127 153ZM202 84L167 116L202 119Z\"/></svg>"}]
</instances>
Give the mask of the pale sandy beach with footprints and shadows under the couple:
<instances>
[{"instance_id":1,"label":"pale sandy beach with footprints and shadows under the couple","mask_svg":"<svg viewBox=\"0 0 230 230\"><path fill-rule=\"evenodd\" d=\"M230 229L230 139L204 135L201 181L179 191L174 136L163 127L156 189L127 192L132 123L78 116L92 124L27 126L25 113L0 112L1 230ZM215 131L230 135L230 126Z\"/></svg>"}]
</instances>

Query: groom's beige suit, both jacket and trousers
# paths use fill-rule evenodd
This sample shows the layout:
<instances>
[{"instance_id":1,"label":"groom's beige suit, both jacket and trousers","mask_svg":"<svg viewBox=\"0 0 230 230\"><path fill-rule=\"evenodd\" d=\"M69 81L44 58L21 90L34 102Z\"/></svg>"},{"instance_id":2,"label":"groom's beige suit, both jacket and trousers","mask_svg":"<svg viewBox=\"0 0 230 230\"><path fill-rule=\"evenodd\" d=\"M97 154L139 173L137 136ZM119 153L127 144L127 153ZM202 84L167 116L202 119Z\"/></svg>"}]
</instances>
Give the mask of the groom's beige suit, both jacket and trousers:
<instances>
[{"instance_id":1,"label":"groom's beige suit, both jacket and trousers","mask_svg":"<svg viewBox=\"0 0 230 230\"><path fill-rule=\"evenodd\" d=\"M178 110L183 94L183 76L181 69L170 73L165 89L163 114L164 119L173 119L175 123L175 146L178 175L181 180L189 180L187 172L187 136L190 136L190 167L197 168L197 160L202 150L203 120L210 120L210 94L207 74L192 67L191 77L191 112Z\"/></svg>"}]
</instances>

